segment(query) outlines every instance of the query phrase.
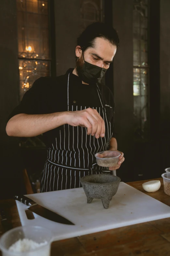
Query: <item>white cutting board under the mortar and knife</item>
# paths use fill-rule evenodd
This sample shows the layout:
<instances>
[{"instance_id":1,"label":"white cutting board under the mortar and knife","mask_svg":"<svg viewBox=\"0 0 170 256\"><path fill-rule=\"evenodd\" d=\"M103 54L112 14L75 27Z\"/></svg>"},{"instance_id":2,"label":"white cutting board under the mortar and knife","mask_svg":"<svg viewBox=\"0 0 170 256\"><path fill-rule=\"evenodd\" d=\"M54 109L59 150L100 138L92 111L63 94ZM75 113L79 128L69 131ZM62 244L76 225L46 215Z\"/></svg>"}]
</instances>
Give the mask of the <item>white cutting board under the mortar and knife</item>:
<instances>
[{"instance_id":1,"label":"white cutting board under the mortar and knife","mask_svg":"<svg viewBox=\"0 0 170 256\"><path fill-rule=\"evenodd\" d=\"M36 214L35 219L28 220L25 213L28 207L16 201L22 226L46 227L54 231L54 241L170 217L169 206L124 182L120 182L118 192L113 196L108 209L103 208L100 199L93 199L87 204L82 188L27 196L76 224L55 223Z\"/></svg>"}]
</instances>

